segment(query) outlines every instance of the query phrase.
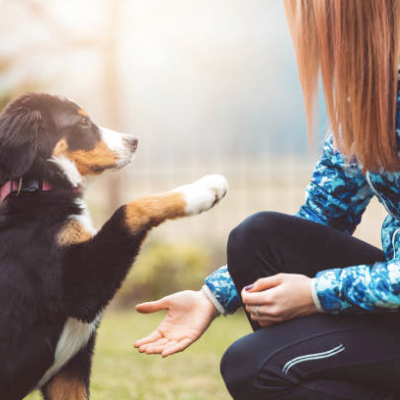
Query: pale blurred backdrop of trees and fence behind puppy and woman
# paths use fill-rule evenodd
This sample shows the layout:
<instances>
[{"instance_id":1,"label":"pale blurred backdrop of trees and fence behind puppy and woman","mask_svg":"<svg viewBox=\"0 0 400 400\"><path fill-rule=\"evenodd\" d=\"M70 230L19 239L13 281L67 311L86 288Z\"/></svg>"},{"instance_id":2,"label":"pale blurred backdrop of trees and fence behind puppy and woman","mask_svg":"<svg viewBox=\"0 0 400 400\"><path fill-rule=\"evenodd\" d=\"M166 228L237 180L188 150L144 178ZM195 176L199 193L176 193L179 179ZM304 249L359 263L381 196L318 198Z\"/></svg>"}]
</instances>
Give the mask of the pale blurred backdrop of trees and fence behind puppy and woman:
<instances>
[{"instance_id":1,"label":"pale blurred backdrop of trees and fence behind puppy and woman","mask_svg":"<svg viewBox=\"0 0 400 400\"><path fill-rule=\"evenodd\" d=\"M97 228L135 197L208 173L229 180L218 207L150 234L113 308L199 288L246 216L299 209L326 115L321 99L310 150L280 1L0 0L0 16L1 107L61 94L139 138L134 163L89 189ZM372 202L357 236L380 246L383 216Z\"/></svg>"}]
</instances>

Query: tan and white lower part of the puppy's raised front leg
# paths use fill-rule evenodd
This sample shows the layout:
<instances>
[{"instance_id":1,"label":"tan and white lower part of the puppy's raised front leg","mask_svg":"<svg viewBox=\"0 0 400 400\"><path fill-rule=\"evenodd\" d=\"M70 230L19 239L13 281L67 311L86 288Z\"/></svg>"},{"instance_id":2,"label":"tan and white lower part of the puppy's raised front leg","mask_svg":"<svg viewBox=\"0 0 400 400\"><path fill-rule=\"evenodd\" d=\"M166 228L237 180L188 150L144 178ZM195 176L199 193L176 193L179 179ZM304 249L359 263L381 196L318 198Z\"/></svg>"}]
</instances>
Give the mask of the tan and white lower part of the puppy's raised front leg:
<instances>
[{"instance_id":1,"label":"tan and white lower part of the puppy's raised front leg","mask_svg":"<svg viewBox=\"0 0 400 400\"><path fill-rule=\"evenodd\" d=\"M137 234L165 220L200 214L218 203L228 191L221 175L207 175L166 193L139 198L125 206L126 224Z\"/></svg>"}]
</instances>

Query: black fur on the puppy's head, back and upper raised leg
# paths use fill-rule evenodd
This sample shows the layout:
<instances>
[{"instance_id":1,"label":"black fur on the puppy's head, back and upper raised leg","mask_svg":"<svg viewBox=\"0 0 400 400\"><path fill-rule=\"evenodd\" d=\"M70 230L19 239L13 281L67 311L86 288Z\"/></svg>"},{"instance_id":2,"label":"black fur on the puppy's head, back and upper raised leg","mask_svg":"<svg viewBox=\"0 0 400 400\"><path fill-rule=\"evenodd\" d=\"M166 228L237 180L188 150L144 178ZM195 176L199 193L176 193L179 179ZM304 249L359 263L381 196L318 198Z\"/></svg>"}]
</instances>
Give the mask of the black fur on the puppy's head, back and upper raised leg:
<instances>
[{"instance_id":1,"label":"black fur on the puppy's head, back and upper raised leg","mask_svg":"<svg viewBox=\"0 0 400 400\"><path fill-rule=\"evenodd\" d=\"M65 99L28 94L0 116L0 184L23 176L53 186L48 192L10 195L0 207L1 399L20 399L36 387L54 362L68 318L96 319L145 235L129 234L121 208L93 239L57 243L65 222L82 209L76 202L80 193L49 162L52 151L62 138L71 151L91 150L100 141L99 128L78 110ZM93 343L94 335L63 367L86 390Z\"/></svg>"}]
</instances>

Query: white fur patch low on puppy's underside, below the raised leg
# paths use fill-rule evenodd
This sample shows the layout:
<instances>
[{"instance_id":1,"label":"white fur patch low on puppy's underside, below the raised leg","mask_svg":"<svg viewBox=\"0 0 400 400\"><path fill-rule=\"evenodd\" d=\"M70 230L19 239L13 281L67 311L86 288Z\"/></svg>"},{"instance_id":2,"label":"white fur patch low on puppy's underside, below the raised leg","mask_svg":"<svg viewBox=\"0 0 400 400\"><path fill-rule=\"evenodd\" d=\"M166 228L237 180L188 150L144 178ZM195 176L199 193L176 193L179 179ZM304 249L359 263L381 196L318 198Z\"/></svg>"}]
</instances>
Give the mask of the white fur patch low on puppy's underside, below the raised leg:
<instances>
[{"instance_id":1,"label":"white fur patch low on puppy's underside, below the raised leg","mask_svg":"<svg viewBox=\"0 0 400 400\"><path fill-rule=\"evenodd\" d=\"M82 322L75 318L67 319L57 343L54 363L43 375L37 387L41 387L48 382L52 376L87 344L96 330L100 319L101 315L91 323Z\"/></svg>"}]
</instances>

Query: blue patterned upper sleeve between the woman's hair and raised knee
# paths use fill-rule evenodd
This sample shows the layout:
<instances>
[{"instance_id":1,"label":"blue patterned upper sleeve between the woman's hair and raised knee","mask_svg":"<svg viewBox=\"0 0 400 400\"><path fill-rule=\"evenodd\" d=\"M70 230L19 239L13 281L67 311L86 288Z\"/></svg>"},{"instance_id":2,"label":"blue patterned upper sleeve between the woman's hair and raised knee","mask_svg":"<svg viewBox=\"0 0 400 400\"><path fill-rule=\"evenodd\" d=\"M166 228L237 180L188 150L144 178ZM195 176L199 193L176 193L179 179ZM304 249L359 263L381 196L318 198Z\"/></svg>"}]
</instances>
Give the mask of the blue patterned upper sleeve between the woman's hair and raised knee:
<instances>
[{"instance_id":1,"label":"blue patterned upper sleeve between the woman's hair and raised knee","mask_svg":"<svg viewBox=\"0 0 400 400\"><path fill-rule=\"evenodd\" d=\"M372 196L360 167L343 159L330 136L297 216L352 234Z\"/></svg>"}]
</instances>

